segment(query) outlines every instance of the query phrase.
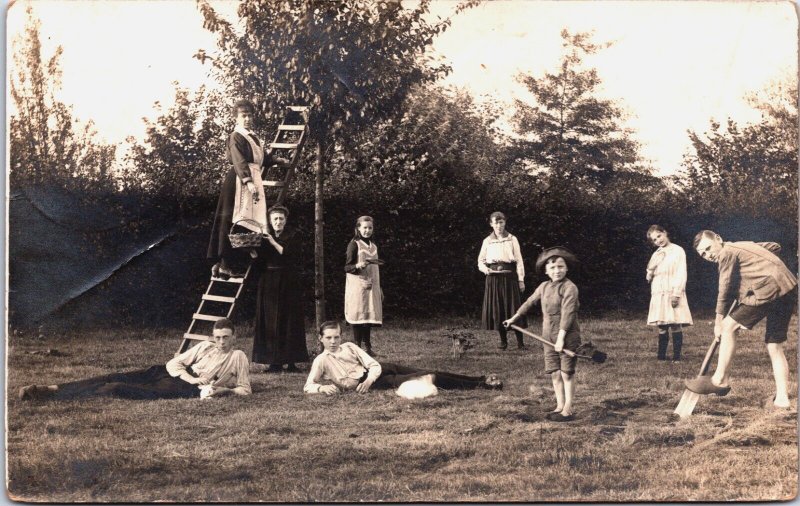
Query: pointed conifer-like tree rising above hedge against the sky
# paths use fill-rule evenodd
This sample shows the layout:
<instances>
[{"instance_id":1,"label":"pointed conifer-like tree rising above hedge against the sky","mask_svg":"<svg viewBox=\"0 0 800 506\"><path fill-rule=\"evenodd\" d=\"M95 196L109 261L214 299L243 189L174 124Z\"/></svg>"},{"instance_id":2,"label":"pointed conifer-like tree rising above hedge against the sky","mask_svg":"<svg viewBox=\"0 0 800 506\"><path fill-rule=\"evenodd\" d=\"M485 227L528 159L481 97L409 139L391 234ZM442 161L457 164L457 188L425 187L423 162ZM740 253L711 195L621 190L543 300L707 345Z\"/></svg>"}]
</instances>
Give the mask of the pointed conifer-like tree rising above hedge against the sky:
<instances>
[{"instance_id":1,"label":"pointed conifer-like tree rising above hedge against the sky","mask_svg":"<svg viewBox=\"0 0 800 506\"><path fill-rule=\"evenodd\" d=\"M514 124L525 139L520 157L552 183L595 187L615 173L643 170L637 165L638 143L622 126L624 114L613 101L596 96L601 79L596 69L582 69L583 58L608 45L591 42L589 33L562 30L566 53L557 73L521 75L534 104L516 100Z\"/></svg>"}]
</instances>

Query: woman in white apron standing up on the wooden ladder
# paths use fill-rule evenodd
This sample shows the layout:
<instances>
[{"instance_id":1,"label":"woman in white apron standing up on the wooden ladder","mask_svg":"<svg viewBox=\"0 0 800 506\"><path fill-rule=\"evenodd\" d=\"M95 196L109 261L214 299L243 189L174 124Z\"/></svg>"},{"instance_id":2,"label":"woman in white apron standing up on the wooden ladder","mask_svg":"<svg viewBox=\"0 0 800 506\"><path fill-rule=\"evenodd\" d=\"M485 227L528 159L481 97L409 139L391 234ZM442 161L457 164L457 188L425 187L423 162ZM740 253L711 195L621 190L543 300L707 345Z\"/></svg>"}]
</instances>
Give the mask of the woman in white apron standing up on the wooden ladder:
<instances>
[{"instance_id":1,"label":"woman in white apron standing up on the wooden ladder","mask_svg":"<svg viewBox=\"0 0 800 506\"><path fill-rule=\"evenodd\" d=\"M234 223L238 222L234 232L263 232L267 229L267 204L261 183L261 168L273 163L284 166L289 163L271 156L250 130L255 114L251 102L236 102L233 113L236 126L228 137L228 161L231 167L222 183L206 254L209 260L217 262L212 274L222 277L241 276L247 268L247 250L233 248L228 239Z\"/></svg>"}]
</instances>

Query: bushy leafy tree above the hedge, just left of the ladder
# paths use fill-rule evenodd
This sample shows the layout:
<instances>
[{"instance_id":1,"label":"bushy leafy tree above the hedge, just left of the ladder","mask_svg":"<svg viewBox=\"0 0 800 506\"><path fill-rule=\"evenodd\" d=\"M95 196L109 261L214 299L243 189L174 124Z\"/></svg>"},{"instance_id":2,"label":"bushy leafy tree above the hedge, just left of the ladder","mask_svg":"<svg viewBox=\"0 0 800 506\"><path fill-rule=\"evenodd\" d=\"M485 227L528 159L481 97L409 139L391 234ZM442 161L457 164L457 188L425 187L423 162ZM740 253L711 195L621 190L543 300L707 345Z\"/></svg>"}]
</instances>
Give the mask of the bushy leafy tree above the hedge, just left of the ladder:
<instances>
[{"instance_id":1,"label":"bushy leafy tree above the hedge, just left of the ladder","mask_svg":"<svg viewBox=\"0 0 800 506\"><path fill-rule=\"evenodd\" d=\"M218 94L201 87L192 95L176 83L174 104L155 120L144 119L143 143L128 138L126 186L143 190L159 206L177 206L181 214L213 201L228 167L222 123L229 110Z\"/></svg>"}]
</instances>

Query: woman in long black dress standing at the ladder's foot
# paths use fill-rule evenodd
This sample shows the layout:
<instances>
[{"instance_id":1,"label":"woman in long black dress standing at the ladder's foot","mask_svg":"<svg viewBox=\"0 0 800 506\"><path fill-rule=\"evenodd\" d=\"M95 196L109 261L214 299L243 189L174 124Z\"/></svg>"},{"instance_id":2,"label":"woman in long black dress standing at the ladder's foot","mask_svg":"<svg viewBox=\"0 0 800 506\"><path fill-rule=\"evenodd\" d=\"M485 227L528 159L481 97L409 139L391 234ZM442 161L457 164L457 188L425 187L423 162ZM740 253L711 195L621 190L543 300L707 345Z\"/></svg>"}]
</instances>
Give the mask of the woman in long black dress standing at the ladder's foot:
<instances>
[{"instance_id":1,"label":"woman in long black dress standing at the ladder's foot","mask_svg":"<svg viewBox=\"0 0 800 506\"><path fill-rule=\"evenodd\" d=\"M266 372L300 372L295 362L308 362L303 303L298 280L298 238L286 227L289 210L276 205L269 210L272 233L258 250L256 269L261 273L256 295L253 362L270 364Z\"/></svg>"}]
</instances>

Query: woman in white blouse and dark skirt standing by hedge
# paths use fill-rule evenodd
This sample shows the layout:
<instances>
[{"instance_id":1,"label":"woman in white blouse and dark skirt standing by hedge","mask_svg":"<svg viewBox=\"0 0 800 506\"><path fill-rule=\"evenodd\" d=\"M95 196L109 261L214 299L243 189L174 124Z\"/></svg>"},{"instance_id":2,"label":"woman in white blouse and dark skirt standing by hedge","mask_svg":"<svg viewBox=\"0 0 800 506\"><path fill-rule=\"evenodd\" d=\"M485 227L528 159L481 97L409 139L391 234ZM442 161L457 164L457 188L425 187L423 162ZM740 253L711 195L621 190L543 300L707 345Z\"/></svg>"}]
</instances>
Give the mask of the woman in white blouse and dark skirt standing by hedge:
<instances>
[{"instance_id":1,"label":"woman in white blouse and dark skirt standing by hedge","mask_svg":"<svg viewBox=\"0 0 800 506\"><path fill-rule=\"evenodd\" d=\"M483 240L481 252L478 254L478 269L486 275L483 328L498 331L499 348L505 350L508 348L508 338L503 321L511 318L522 304L525 266L522 263L519 241L506 231L506 216L499 211L494 212L489 216L489 224L492 226L492 233ZM524 317L517 320L517 325L527 326ZM517 348L524 349L522 332L514 332L517 335Z\"/></svg>"}]
</instances>

